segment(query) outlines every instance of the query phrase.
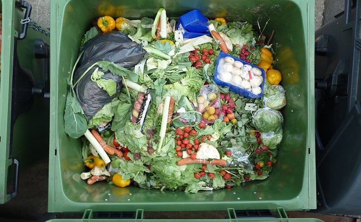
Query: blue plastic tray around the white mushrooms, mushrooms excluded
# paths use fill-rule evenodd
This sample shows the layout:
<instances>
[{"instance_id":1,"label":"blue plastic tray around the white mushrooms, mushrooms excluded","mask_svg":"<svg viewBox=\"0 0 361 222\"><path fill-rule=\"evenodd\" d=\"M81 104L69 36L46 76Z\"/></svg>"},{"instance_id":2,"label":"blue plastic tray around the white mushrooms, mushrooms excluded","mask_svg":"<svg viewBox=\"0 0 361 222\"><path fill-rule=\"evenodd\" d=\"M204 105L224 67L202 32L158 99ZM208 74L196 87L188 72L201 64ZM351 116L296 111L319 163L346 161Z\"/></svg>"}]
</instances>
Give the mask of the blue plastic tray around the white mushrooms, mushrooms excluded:
<instances>
[{"instance_id":1,"label":"blue plastic tray around the white mushrooms, mushrooms excluded","mask_svg":"<svg viewBox=\"0 0 361 222\"><path fill-rule=\"evenodd\" d=\"M246 89L243 89L237 85L234 85L230 82L225 82L225 81L222 81L221 79L219 79L218 77L218 67L219 67L219 61L222 59L222 58L226 58L226 57L231 57L233 58L235 61L240 61L241 63L243 63L243 65L250 65L252 68L257 68L259 69L261 72L262 72L262 77L263 77L263 81L260 85L261 87L261 93L256 95L254 93L252 93L251 91L248 91ZM223 86L223 87L229 87L229 90L232 91L232 92L235 92L235 93L238 93L246 98L249 98L249 99L255 99L255 98L261 98L262 95L263 95L263 86L264 86L264 79L265 79L265 71L261 68L259 68L258 66L255 66L253 64L250 64L250 63L247 63L237 57L234 57L234 56L231 56L230 54L228 53L225 53L225 52L220 52L219 53L219 56L218 56L218 59L217 59L217 63L216 63L216 66L215 66L215 72L214 72L214 75L213 75L213 80L214 82L217 84L217 85L220 85L220 86Z\"/></svg>"}]
</instances>

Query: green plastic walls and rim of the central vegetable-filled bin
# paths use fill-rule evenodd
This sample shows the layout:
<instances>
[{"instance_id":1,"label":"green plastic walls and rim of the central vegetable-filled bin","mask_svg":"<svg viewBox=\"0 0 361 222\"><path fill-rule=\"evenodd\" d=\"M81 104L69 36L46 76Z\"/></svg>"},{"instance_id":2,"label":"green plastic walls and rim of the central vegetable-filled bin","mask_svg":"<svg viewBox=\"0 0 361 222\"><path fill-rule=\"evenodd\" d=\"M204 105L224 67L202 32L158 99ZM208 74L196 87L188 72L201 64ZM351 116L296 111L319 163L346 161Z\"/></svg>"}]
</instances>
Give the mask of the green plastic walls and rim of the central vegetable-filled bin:
<instances>
[{"instance_id":1,"label":"green plastic walls and rim of the central vegetable-filled bin","mask_svg":"<svg viewBox=\"0 0 361 222\"><path fill-rule=\"evenodd\" d=\"M314 0L52 0L48 211L315 209L314 4ZM155 17L160 7L172 17L197 8L209 18L225 17L227 21L265 24L270 19L265 31L276 30L277 69L282 72L288 104L283 111L279 161L268 179L197 194L107 183L87 185L80 179L86 170L81 141L64 132L66 78L78 57L80 40L94 18L106 14Z\"/></svg>"}]
</instances>

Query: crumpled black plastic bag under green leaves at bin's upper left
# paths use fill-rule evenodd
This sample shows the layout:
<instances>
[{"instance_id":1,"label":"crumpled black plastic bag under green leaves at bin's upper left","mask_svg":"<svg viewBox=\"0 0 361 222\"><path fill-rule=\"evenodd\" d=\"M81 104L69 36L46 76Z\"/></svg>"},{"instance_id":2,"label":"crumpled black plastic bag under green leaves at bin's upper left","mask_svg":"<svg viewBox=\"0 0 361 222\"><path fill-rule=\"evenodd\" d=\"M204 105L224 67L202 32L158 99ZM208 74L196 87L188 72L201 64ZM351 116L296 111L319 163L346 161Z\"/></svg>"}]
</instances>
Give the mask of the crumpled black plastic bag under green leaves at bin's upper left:
<instances>
[{"instance_id":1,"label":"crumpled black plastic bag under green leaves at bin's upper left","mask_svg":"<svg viewBox=\"0 0 361 222\"><path fill-rule=\"evenodd\" d=\"M138 64L146 53L141 44L137 44L121 32L99 34L86 41L80 48L81 51L84 51L84 54L81 56L74 74L74 83L91 65L98 61L114 62L125 69L130 69ZM102 78L113 79L117 83L116 93L112 96L109 96L105 90L91 80L90 76L96 68L104 73ZM88 119L119 94L121 81L121 76L114 75L109 71L105 72L98 66L92 67L80 79L75 87L75 92Z\"/></svg>"}]
</instances>

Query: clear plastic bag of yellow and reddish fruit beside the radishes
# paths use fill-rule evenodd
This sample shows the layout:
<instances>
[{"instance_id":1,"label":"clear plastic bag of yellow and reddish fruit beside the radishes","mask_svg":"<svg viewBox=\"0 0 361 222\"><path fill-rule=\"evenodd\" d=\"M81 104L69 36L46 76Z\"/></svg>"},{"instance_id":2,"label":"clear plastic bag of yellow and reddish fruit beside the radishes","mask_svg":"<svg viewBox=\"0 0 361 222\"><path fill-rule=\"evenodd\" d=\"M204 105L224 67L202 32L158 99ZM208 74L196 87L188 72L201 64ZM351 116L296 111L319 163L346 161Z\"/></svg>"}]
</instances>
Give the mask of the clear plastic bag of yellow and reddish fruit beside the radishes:
<instances>
[{"instance_id":1,"label":"clear plastic bag of yellow and reddish fruit beside the radishes","mask_svg":"<svg viewBox=\"0 0 361 222\"><path fill-rule=\"evenodd\" d=\"M221 98L217 85L203 85L197 97L198 111L202 113L204 123L213 123L216 119L223 119L221 114Z\"/></svg>"}]
</instances>

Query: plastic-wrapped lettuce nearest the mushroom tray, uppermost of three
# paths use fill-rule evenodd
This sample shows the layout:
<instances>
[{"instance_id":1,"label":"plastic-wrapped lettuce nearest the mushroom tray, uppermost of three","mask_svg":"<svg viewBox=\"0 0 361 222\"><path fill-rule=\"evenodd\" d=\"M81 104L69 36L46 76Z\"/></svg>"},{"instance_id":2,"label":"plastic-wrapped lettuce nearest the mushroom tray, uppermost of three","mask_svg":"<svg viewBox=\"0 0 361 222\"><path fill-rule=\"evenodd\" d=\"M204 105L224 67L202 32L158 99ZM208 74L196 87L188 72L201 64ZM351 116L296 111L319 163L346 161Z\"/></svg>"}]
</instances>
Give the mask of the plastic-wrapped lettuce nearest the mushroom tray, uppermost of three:
<instances>
[{"instance_id":1,"label":"plastic-wrapped lettuce nearest the mushroom tray, uppermost of three","mask_svg":"<svg viewBox=\"0 0 361 222\"><path fill-rule=\"evenodd\" d=\"M263 102L266 107L281 110L286 105L286 93L281 85L270 85L264 94Z\"/></svg>"}]
</instances>

